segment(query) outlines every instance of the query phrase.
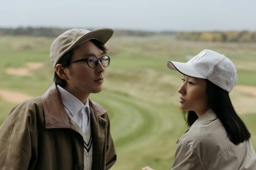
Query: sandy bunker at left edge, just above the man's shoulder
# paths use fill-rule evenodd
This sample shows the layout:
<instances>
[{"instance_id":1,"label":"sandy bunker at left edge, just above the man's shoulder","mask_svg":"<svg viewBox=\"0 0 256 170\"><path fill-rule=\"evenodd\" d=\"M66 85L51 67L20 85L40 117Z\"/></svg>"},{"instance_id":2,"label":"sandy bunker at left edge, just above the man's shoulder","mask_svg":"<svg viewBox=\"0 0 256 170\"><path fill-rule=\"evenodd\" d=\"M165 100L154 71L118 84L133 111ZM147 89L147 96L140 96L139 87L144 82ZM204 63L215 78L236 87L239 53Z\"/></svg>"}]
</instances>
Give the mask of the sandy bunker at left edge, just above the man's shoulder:
<instances>
[{"instance_id":1,"label":"sandy bunker at left edge, just above the man's shoulder","mask_svg":"<svg viewBox=\"0 0 256 170\"><path fill-rule=\"evenodd\" d=\"M6 90L0 90L0 97L10 103L20 103L24 100L33 98L33 96L29 96L27 94L24 94L22 92L12 92L12 91L6 91Z\"/></svg>"}]
</instances>

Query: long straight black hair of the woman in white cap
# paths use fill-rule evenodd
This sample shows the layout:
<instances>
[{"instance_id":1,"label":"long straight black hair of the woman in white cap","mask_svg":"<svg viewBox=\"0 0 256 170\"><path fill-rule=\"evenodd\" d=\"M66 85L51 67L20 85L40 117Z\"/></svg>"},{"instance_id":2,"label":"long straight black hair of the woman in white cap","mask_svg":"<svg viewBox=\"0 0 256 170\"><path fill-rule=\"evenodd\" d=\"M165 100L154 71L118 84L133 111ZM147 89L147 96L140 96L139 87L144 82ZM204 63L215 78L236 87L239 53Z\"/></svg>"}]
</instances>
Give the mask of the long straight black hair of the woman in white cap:
<instances>
[{"instance_id":1,"label":"long straight black hair of the woman in white cap","mask_svg":"<svg viewBox=\"0 0 256 170\"><path fill-rule=\"evenodd\" d=\"M207 83L206 94L208 97L208 106L223 124L230 141L238 145L249 140L251 134L244 122L237 115L231 103L229 93L211 81L207 79L205 81ZM183 111L183 117L189 127L198 119L194 111Z\"/></svg>"}]
</instances>

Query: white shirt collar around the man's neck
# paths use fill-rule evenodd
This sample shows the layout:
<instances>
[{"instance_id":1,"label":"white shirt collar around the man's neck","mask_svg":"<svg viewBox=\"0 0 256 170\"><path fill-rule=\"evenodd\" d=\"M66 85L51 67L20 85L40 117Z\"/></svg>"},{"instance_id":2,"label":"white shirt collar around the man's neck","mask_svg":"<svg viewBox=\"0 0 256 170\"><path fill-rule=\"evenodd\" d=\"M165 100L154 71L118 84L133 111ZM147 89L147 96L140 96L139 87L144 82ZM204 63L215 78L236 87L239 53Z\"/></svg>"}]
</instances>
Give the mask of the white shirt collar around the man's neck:
<instances>
[{"instance_id":1,"label":"white shirt collar around the man's neck","mask_svg":"<svg viewBox=\"0 0 256 170\"><path fill-rule=\"evenodd\" d=\"M57 85L57 88L60 92L60 97L62 99L62 102L64 106L70 111L70 114L72 116L75 116L79 110L81 110L83 107L88 107L88 111L90 113L90 107L89 107L89 100L87 99L85 105L77 99L73 94L66 91L59 85Z\"/></svg>"}]
</instances>

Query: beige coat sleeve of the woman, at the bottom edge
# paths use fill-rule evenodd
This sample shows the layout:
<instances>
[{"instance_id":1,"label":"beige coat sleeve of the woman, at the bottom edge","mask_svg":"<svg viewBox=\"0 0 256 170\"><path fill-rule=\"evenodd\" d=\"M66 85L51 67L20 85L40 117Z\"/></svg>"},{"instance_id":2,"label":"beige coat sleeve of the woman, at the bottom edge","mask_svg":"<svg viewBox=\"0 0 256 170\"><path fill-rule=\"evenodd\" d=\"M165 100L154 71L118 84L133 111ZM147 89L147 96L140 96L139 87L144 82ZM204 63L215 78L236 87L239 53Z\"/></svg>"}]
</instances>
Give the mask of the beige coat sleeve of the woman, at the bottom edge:
<instances>
[{"instance_id":1,"label":"beige coat sleeve of the woman, at the bottom edge","mask_svg":"<svg viewBox=\"0 0 256 170\"><path fill-rule=\"evenodd\" d=\"M179 140L175 151L172 170L204 170L203 163L196 150L183 140Z\"/></svg>"}]
</instances>

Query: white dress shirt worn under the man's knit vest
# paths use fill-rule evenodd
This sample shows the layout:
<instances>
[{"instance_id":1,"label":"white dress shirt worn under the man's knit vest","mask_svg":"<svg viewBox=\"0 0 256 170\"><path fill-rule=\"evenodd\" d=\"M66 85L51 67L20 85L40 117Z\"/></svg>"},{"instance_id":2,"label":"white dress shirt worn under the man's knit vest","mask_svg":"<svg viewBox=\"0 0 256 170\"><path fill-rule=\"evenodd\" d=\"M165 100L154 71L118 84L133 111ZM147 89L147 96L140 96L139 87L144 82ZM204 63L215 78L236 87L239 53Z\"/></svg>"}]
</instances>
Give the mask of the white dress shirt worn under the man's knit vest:
<instances>
[{"instance_id":1,"label":"white dress shirt worn under the man's knit vest","mask_svg":"<svg viewBox=\"0 0 256 170\"><path fill-rule=\"evenodd\" d=\"M84 105L79 99L59 85L57 85L57 88L69 117L81 127L85 134L88 128L88 120L90 118L89 100L87 99Z\"/></svg>"}]
</instances>

